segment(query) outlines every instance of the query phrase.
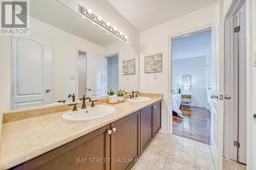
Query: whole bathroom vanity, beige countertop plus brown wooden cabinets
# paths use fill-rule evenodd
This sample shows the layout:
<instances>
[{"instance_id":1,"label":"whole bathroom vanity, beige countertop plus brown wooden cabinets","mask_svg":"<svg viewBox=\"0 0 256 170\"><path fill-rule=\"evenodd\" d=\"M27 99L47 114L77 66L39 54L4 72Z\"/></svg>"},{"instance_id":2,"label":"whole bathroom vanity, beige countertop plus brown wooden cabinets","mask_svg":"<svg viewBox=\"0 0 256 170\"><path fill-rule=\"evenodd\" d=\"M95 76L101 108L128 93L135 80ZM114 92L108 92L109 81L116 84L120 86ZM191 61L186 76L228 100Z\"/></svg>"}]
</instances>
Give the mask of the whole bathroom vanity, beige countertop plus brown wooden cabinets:
<instances>
[{"instance_id":1,"label":"whole bathroom vanity, beige countertop plus brown wooden cabinets","mask_svg":"<svg viewBox=\"0 0 256 170\"><path fill-rule=\"evenodd\" d=\"M125 99L90 122L63 122L59 112L5 123L1 169L131 169L161 129L162 95L151 99Z\"/></svg>"}]
</instances>

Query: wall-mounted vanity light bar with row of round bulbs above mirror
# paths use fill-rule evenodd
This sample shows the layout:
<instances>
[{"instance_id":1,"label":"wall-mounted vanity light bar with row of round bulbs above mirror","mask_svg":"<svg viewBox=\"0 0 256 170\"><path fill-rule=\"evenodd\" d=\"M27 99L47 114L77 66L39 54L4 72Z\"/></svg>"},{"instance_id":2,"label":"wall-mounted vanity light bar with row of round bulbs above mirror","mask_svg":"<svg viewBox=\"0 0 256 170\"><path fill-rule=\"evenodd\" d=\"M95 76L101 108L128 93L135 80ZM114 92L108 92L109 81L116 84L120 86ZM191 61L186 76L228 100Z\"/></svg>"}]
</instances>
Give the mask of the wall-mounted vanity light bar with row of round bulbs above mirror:
<instances>
[{"instance_id":1,"label":"wall-mounted vanity light bar with row of round bulbs above mirror","mask_svg":"<svg viewBox=\"0 0 256 170\"><path fill-rule=\"evenodd\" d=\"M79 6L79 7L80 7L80 11L79 12L85 18L87 18L88 20L91 20L94 25L97 25L101 29L104 29L107 32L112 33L115 37L119 38L120 40L123 40L124 42L127 41L127 36L124 36L122 32L117 31L116 27L112 27L110 25L110 22L105 22L104 20L102 20L101 16L97 16L97 15L93 14L92 10L90 8L86 9L86 8L84 8L82 6Z\"/></svg>"}]
</instances>

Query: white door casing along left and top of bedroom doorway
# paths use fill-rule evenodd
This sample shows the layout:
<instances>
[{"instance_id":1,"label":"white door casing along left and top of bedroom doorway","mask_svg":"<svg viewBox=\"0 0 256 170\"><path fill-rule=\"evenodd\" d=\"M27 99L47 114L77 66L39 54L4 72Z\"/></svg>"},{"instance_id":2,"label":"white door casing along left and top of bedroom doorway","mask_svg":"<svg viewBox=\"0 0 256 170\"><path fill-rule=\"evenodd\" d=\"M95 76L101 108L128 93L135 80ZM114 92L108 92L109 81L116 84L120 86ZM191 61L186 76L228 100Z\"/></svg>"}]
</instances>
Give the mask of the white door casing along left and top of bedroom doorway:
<instances>
[{"instance_id":1,"label":"white door casing along left and top of bedroom doorway","mask_svg":"<svg viewBox=\"0 0 256 170\"><path fill-rule=\"evenodd\" d=\"M206 25L203 25L203 26L200 26L200 27L196 27L196 28L193 28L193 29L188 29L186 31L183 31L183 32L179 32L179 33L176 33L176 34L172 34L172 35L168 35L168 96L167 96L167 134L173 134L173 105L172 105L172 39L173 38L177 38L177 37L180 37L180 36L184 36L184 35L187 35L187 34L193 34L193 33L196 33L196 32L199 32L199 31L203 31L203 30L206 30L206 29L211 29L211 22L206 24Z\"/></svg>"}]
</instances>

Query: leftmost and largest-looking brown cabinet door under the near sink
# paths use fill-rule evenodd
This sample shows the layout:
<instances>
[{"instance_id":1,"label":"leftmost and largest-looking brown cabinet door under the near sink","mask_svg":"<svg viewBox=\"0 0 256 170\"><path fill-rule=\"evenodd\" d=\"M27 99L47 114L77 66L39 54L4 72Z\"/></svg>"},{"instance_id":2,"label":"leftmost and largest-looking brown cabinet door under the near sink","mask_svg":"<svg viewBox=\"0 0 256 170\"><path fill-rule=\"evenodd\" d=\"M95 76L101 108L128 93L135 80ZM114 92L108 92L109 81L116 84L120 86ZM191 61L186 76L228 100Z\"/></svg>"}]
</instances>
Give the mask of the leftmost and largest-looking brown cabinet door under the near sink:
<instances>
[{"instance_id":1,"label":"leftmost and largest-looking brown cabinet door under the near sink","mask_svg":"<svg viewBox=\"0 0 256 170\"><path fill-rule=\"evenodd\" d=\"M108 161L96 160L110 158L110 135L106 133L109 129L110 125L104 126L14 169L109 170Z\"/></svg>"}]
</instances>

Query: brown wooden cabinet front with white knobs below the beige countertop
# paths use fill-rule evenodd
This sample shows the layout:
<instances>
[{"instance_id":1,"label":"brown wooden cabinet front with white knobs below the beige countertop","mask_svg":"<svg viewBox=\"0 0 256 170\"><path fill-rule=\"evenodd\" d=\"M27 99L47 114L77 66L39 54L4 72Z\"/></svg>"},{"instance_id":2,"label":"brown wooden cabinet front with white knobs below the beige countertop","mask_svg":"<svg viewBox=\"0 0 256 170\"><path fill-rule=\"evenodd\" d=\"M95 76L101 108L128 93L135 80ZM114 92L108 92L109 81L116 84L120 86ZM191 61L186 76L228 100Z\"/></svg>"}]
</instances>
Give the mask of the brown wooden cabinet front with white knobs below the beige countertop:
<instances>
[{"instance_id":1,"label":"brown wooden cabinet front with white knobs below the beige countertop","mask_svg":"<svg viewBox=\"0 0 256 170\"><path fill-rule=\"evenodd\" d=\"M131 169L160 129L161 101L11 169Z\"/></svg>"}]
</instances>

